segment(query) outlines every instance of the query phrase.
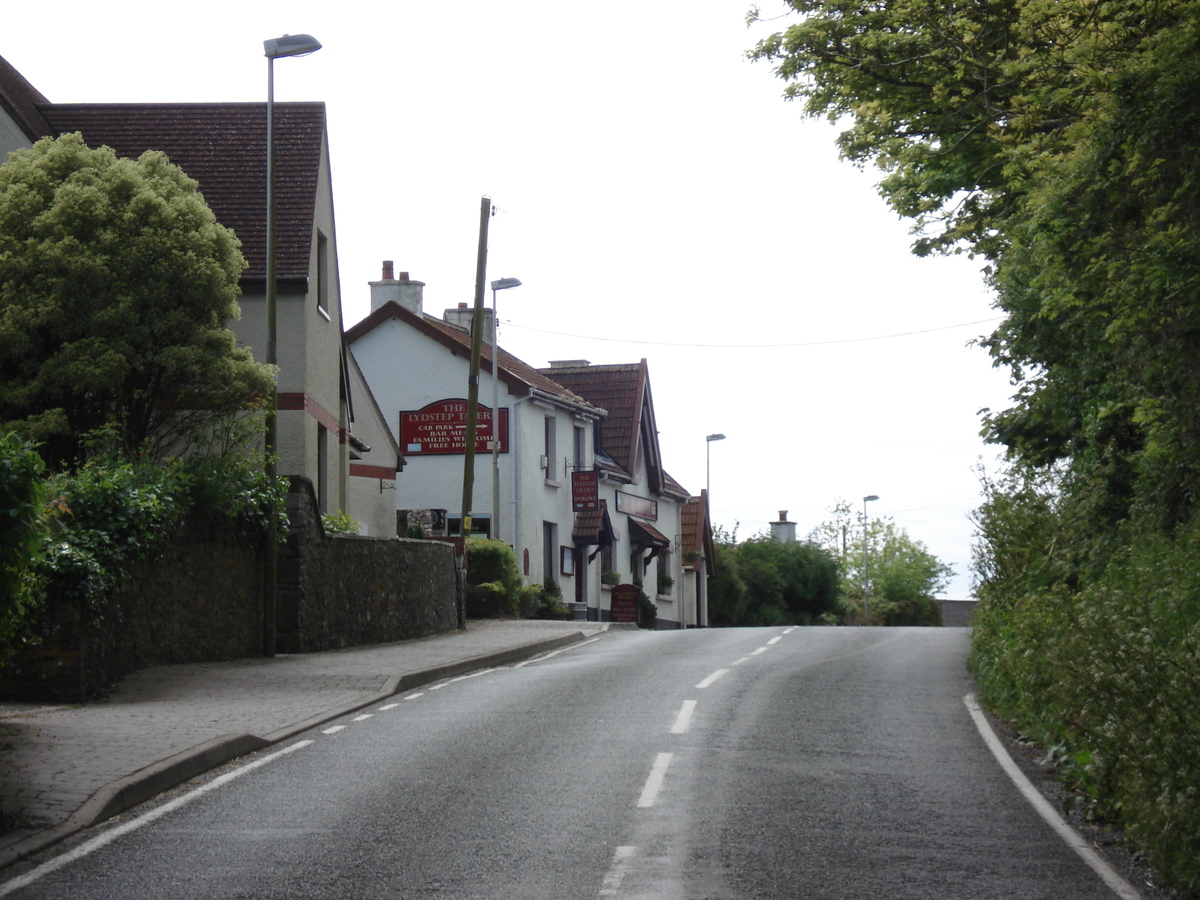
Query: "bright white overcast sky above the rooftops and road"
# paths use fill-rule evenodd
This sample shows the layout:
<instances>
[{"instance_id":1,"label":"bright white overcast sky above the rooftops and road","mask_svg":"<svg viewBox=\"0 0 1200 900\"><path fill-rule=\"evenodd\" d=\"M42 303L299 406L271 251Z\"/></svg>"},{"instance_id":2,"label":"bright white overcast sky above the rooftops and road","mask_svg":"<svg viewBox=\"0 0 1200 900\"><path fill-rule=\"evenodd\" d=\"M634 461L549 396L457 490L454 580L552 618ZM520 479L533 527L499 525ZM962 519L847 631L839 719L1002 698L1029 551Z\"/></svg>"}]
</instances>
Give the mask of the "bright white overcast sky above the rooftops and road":
<instances>
[{"instance_id":1,"label":"bright white overcast sky above the rooftops and road","mask_svg":"<svg viewBox=\"0 0 1200 900\"><path fill-rule=\"evenodd\" d=\"M490 194L487 277L523 282L499 295L506 349L646 358L684 487L704 487L704 436L727 436L714 524L746 538L787 510L804 535L878 494L872 517L966 598L973 469L997 456L978 410L1012 394L970 346L997 317L979 263L910 254L878 173L744 59L786 25L748 29L749 5L60 0L6 8L0 55L54 102L262 101L263 40L314 35L275 89L328 104L347 326L384 259L426 282L426 312L470 302Z\"/></svg>"}]
</instances>

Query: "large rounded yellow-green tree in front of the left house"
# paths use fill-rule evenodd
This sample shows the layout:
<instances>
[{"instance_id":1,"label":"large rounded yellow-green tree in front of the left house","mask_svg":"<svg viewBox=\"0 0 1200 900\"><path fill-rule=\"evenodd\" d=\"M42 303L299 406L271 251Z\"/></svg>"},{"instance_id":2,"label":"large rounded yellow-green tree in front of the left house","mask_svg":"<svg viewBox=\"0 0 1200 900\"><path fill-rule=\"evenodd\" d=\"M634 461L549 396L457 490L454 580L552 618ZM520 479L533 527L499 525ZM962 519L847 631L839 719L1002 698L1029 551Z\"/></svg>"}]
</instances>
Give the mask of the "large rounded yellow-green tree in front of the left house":
<instances>
[{"instance_id":1,"label":"large rounded yellow-green tree in front of the left house","mask_svg":"<svg viewBox=\"0 0 1200 900\"><path fill-rule=\"evenodd\" d=\"M197 184L161 152L119 158L80 136L0 166L0 426L53 466L114 424L158 458L271 389L238 348L245 268Z\"/></svg>"}]
</instances>

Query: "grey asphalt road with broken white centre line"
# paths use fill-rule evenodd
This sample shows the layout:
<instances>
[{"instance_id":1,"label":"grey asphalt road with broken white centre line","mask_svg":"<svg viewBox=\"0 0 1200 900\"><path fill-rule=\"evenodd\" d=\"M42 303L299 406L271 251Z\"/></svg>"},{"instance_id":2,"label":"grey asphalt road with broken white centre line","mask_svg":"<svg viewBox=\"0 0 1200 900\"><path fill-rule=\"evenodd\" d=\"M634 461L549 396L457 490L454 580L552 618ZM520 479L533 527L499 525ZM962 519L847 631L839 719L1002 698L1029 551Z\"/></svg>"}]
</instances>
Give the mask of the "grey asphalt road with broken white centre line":
<instances>
[{"instance_id":1,"label":"grey asphalt road with broken white centre line","mask_svg":"<svg viewBox=\"0 0 1200 900\"><path fill-rule=\"evenodd\" d=\"M1112 896L985 748L966 649L610 632L247 757L0 896Z\"/></svg>"}]
</instances>

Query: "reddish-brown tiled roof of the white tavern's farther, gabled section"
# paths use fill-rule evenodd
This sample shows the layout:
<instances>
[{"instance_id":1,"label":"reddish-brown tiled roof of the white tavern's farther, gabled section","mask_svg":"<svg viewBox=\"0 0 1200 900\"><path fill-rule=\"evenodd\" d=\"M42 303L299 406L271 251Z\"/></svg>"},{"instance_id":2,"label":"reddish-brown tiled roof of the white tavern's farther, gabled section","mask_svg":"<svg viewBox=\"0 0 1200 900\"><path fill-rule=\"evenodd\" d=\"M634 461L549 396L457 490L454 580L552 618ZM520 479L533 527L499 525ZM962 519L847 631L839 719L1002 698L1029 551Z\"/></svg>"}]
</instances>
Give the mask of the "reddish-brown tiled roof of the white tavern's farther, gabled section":
<instances>
[{"instance_id":1,"label":"reddish-brown tiled roof of the white tavern's farther, gabled section","mask_svg":"<svg viewBox=\"0 0 1200 900\"><path fill-rule=\"evenodd\" d=\"M600 446L613 462L632 474L642 406L649 400L646 360L614 366L556 366L540 371L608 410L600 424Z\"/></svg>"}]
</instances>

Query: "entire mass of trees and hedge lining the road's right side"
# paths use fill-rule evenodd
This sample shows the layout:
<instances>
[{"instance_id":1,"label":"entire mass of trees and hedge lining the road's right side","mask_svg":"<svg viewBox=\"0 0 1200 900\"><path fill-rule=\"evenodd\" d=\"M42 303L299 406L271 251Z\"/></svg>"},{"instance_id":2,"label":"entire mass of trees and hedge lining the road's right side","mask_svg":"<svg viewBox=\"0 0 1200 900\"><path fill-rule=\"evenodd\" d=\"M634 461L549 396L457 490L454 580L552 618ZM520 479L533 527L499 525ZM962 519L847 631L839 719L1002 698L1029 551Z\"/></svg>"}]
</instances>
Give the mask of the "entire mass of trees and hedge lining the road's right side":
<instances>
[{"instance_id":1,"label":"entire mass of trees and hedge lining the road's right side","mask_svg":"<svg viewBox=\"0 0 1200 900\"><path fill-rule=\"evenodd\" d=\"M1004 314L982 690L1200 896L1200 0L788 5L751 55Z\"/></svg>"}]
</instances>

